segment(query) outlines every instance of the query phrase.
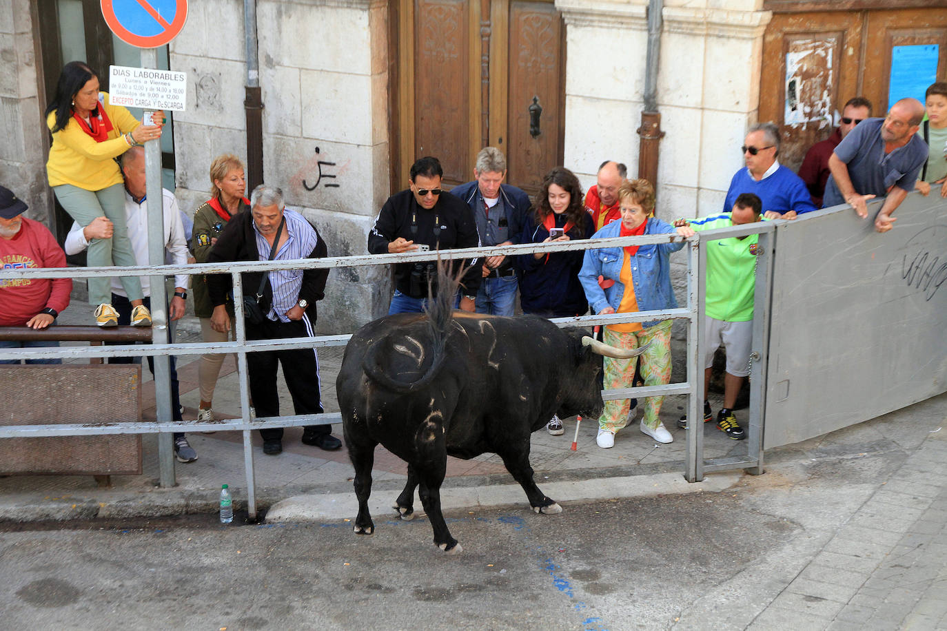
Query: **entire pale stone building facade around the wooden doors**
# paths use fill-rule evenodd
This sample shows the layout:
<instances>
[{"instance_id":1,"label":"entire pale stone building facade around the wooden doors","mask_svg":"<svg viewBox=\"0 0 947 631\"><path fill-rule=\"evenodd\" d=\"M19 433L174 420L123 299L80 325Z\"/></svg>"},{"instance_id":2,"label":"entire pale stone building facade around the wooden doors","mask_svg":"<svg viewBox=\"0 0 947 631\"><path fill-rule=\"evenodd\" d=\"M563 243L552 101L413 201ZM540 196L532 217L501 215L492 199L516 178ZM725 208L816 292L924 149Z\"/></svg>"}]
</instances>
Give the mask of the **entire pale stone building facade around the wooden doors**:
<instances>
[{"instance_id":1,"label":"entire pale stone building facade around the wooden doors","mask_svg":"<svg viewBox=\"0 0 947 631\"><path fill-rule=\"evenodd\" d=\"M756 122L763 0L668 0L663 9L658 109L659 215L722 210L741 167L739 147ZM565 24L563 163L594 184L605 158L637 171L647 49L646 0L556 0ZM170 67L188 73L188 111L174 114L176 194L183 208L205 201L207 167L223 152L246 157L243 5L191 2L170 44ZM259 0L264 179L286 192L327 239L331 254L366 254L366 234L392 182L389 73L396 60L391 11L380 0ZM0 179L50 216L48 136L38 42L28 0L0 8ZM396 32L397 35L397 32ZM607 45L603 45L607 43ZM444 78L443 80L450 80ZM436 149L432 152L437 153ZM516 184L516 183L512 183ZM348 332L384 313L384 267L332 272L320 329Z\"/></svg>"}]
</instances>

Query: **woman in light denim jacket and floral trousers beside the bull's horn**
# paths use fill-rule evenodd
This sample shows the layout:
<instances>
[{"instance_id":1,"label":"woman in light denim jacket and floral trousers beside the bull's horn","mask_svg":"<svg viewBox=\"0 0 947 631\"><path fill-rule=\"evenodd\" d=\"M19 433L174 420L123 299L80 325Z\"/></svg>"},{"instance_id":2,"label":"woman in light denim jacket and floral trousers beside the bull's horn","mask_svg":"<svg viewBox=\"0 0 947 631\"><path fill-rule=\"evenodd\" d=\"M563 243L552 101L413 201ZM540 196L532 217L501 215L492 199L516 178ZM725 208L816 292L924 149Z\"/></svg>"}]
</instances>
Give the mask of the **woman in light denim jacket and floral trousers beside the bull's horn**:
<instances>
[{"instance_id":1,"label":"woman in light denim jacket and floral trousers beside the bull's horn","mask_svg":"<svg viewBox=\"0 0 947 631\"><path fill-rule=\"evenodd\" d=\"M640 235L678 234L690 237L688 227L674 228L652 217L654 187L647 180L625 181L618 188L621 219L609 223L592 238L631 237ZM684 247L683 242L657 243L586 250L579 280L592 310L599 314L633 313L677 307L674 290L670 287L670 253ZM618 348L638 348L651 344L642 353L641 375L645 385L659 385L670 381L670 320L652 320L644 323L608 324L603 331L603 342ZM635 359L605 358L606 389L627 388L634 382ZM645 403L641 431L659 443L674 440L661 423L663 396L650 396ZM628 424L629 400L605 401L605 410L599 417L599 447L615 445L615 433Z\"/></svg>"}]
</instances>

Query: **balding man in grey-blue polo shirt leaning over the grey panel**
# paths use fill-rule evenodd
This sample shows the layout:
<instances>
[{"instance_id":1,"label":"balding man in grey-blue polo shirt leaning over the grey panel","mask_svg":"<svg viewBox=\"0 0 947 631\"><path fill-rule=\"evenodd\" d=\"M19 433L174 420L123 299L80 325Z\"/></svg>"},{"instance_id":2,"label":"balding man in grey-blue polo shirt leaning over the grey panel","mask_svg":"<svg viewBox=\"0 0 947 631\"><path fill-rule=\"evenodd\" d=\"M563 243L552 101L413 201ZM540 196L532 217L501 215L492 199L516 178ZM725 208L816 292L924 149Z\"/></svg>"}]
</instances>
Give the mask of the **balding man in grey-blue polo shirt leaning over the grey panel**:
<instances>
[{"instance_id":1,"label":"balding man in grey-blue polo shirt leaning over the grey panel","mask_svg":"<svg viewBox=\"0 0 947 631\"><path fill-rule=\"evenodd\" d=\"M875 230L887 232L891 215L914 190L927 145L917 135L924 106L916 98L902 98L884 118L868 118L849 131L829 158L831 176L823 207L849 203L858 216L868 216L866 202L887 196Z\"/></svg>"}]
</instances>

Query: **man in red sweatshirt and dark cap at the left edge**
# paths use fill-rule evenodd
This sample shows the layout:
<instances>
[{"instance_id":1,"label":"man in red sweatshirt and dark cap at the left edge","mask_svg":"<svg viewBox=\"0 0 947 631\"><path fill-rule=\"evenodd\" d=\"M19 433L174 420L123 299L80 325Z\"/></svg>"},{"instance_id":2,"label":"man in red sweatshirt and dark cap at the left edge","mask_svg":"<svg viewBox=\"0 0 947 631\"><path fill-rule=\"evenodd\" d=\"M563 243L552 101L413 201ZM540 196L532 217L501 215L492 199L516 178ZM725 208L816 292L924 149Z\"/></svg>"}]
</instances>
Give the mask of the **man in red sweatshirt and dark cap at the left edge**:
<instances>
[{"instance_id":1,"label":"man in red sweatshirt and dark cap at the left edge","mask_svg":"<svg viewBox=\"0 0 947 631\"><path fill-rule=\"evenodd\" d=\"M0 186L0 265L4 270L64 268L65 253L49 230L23 217L26 202ZM69 278L0 277L0 326L46 328L69 306ZM0 341L0 348L59 346L59 342ZM0 363L17 363L2 359ZM27 363L62 363L61 359L27 359Z\"/></svg>"}]
</instances>

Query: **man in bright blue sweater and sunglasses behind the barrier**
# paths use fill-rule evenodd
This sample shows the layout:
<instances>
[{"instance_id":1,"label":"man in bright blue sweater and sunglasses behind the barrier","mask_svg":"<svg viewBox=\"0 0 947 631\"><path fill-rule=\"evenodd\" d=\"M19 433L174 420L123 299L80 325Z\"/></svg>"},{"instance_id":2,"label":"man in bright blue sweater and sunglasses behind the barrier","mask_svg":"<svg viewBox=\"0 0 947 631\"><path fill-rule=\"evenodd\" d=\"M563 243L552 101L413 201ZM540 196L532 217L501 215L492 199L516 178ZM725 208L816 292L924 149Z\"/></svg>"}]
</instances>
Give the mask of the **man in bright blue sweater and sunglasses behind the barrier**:
<instances>
[{"instance_id":1,"label":"man in bright blue sweater and sunglasses behind the barrier","mask_svg":"<svg viewBox=\"0 0 947 631\"><path fill-rule=\"evenodd\" d=\"M795 219L796 215L816 209L806 183L777 160L779 128L776 125L758 123L751 127L742 149L746 168L737 171L730 181L724 213L730 212L743 193L759 197L766 219Z\"/></svg>"}]
</instances>

